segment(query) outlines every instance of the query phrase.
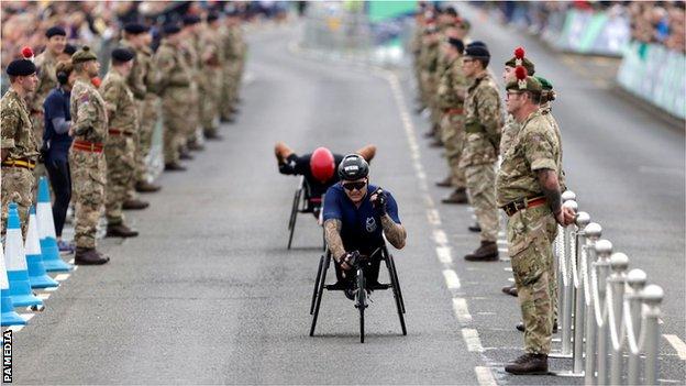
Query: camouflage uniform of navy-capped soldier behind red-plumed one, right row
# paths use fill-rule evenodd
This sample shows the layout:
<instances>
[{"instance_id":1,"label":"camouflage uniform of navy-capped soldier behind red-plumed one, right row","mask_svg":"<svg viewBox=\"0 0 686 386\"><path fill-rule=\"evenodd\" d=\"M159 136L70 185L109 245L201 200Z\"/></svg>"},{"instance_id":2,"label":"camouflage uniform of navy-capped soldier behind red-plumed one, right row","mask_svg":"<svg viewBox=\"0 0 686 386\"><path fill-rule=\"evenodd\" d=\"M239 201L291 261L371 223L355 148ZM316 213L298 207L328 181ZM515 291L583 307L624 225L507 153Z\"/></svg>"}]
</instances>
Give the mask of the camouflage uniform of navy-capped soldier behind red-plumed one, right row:
<instances>
[{"instance_id":1,"label":"camouflage uniform of navy-capped soldier behind red-plumed one, right row","mask_svg":"<svg viewBox=\"0 0 686 386\"><path fill-rule=\"evenodd\" d=\"M474 79L465 101L465 146L460 161L464 168L469 202L482 227L482 241L496 242L496 162L502 126L500 97L493 76L484 73Z\"/></svg>"}]
</instances>

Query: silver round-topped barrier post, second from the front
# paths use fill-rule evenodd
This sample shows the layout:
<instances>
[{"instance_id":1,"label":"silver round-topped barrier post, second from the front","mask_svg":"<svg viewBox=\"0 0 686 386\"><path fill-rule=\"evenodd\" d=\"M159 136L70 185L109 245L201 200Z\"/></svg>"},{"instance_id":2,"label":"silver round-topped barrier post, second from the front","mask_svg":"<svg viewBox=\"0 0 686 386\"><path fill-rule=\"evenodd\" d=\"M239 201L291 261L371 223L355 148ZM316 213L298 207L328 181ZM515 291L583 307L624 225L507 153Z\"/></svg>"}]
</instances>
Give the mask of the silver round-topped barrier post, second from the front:
<instances>
[{"instance_id":1,"label":"silver round-topped barrier post, second from the front","mask_svg":"<svg viewBox=\"0 0 686 386\"><path fill-rule=\"evenodd\" d=\"M641 269L631 269L627 275L629 291L624 295L624 321L627 322L627 339L629 341L629 375L627 384L638 385L641 351L639 339L641 334L641 291L645 287L648 276Z\"/></svg>"}]
</instances>

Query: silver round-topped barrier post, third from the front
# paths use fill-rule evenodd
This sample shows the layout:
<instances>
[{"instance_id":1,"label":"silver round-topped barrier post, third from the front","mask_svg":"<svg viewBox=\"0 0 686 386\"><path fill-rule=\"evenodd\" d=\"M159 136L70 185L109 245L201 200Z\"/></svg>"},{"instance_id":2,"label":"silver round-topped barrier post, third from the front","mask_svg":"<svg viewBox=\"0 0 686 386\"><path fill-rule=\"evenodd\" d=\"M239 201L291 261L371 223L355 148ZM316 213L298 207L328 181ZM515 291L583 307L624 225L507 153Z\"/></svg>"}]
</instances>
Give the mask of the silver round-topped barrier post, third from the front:
<instances>
[{"instance_id":1,"label":"silver round-topped barrier post, third from the front","mask_svg":"<svg viewBox=\"0 0 686 386\"><path fill-rule=\"evenodd\" d=\"M622 320L624 304L624 287L627 280L627 267L629 257L623 253L615 253L610 257L612 275L608 278L608 328L610 329L611 357L610 357L610 385L619 385L621 382L621 368L623 362L624 330Z\"/></svg>"}]
</instances>

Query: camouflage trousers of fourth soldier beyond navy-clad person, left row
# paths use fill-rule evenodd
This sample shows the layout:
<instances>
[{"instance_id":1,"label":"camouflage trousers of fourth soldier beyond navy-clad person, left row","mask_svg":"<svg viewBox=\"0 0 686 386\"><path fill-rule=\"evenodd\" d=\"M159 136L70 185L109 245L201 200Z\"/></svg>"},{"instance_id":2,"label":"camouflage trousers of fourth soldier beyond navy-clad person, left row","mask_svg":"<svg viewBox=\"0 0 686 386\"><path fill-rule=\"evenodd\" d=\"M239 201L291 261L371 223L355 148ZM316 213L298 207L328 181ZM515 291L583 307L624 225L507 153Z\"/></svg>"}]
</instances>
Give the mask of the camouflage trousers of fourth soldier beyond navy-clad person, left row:
<instances>
[{"instance_id":1,"label":"camouflage trousers of fourth soldier beyond navy-clad person, left row","mask_svg":"<svg viewBox=\"0 0 686 386\"><path fill-rule=\"evenodd\" d=\"M164 119L165 164L179 162L179 147L184 145L188 120L186 117L186 96L188 87L176 87L162 98L162 118Z\"/></svg>"}]
</instances>

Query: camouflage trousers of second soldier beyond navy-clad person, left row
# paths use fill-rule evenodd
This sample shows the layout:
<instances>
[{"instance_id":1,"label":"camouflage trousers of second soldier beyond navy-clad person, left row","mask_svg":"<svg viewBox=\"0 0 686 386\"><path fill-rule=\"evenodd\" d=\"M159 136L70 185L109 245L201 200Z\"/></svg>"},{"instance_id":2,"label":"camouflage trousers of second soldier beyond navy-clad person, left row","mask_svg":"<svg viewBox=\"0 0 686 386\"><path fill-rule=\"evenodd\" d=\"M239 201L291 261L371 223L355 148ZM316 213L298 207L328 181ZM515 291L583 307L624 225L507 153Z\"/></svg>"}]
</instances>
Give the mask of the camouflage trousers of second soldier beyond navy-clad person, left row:
<instances>
[{"instance_id":1,"label":"camouflage trousers of second soldier beyond navy-clad person, left row","mask_svg":"<svg viewBox=\"0 0 686 386\"><path fill-rule=\"evenodd\" d=\"M111 135L104 145L107 194L104 214L108 225L124 221L122 206L135 183L135 143L133 136Z\"/></svg>"}]
</instances>

